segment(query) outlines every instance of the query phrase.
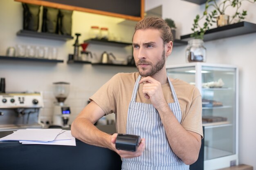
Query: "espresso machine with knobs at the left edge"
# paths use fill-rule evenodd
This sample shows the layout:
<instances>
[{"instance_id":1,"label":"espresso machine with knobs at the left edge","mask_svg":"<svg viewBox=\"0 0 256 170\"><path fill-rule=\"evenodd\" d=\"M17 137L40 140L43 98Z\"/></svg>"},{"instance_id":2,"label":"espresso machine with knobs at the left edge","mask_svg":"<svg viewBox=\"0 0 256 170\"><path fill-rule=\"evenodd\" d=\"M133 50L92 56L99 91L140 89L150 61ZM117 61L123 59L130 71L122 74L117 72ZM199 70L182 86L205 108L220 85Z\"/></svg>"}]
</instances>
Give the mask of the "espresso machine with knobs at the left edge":
<instances>
[{"instance_id":1,"label":"espresso machine with knobs at the left edge","mask_svg":"<svg viewBox=\"0 0 256 170\"><path fill-rule=\"evenodd\" d=\"M42 93L0 93L0 131L43 128L39 121Z\"/></svg>"}]
</instances>

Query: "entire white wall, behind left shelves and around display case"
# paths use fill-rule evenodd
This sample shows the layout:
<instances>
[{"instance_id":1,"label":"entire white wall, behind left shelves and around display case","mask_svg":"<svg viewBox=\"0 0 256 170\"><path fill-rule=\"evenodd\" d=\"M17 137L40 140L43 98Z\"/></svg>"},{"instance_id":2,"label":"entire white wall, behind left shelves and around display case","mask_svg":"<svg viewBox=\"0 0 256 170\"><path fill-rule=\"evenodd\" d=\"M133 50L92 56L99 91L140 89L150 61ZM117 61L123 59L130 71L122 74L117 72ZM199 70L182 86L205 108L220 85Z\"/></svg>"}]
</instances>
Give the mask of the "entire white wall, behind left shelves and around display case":
<instances>
[{"instance_id":1,"label":"entire white wall, behind left shelves and around display case","mask_svg":"<svg viewBox=\"0 0 256 170\"><path fill-rule=\"evenodd\" d=\"M56 46L59 49L58 58L64 63L50 64L41 62L18 62L0 60L0 77L6 78L7 91L43 91L45 108L42 117L50 117L55 101L52 95L52 83L66 81L71 83L70 96L67 103L72 110L72 118L79 113L85 103L97 89L112 75L118 72L133 72L136 68L91 66L83 64L66 64L67 54L72 53L74 40L60 42L39 38L18 37L16 32L22 29L22 7L12 0L1 0L0 5L0 55L4 55L8 46L17 43ZM204 5L197 5L183 0L145 0L145 9L150 10L163 5L163 18L175 20L179 35L191 33L191 26L196 14L202 13ZM247 10L246 21L256 23L256 4L245 1L243 9ZM82 33L80 42L88 37L91 25L108 26L112 33L122 37L124 41L130 41L133 28L122 24L122 19L103 17L88 13L74 11L72 35ZM207 62L224 63L238 66L240 70L239 81L239 163L245 163L256 168L256 114L254 114L254 96L256 95L256 33L241 35L206 42ZM174 47L167 64L185 63L186 46ZM120 57L126 57L130 53L127 49L109 46L88 47L89 51L99 57L104 51L111 51Z\"/></svg>"}]
</instances>

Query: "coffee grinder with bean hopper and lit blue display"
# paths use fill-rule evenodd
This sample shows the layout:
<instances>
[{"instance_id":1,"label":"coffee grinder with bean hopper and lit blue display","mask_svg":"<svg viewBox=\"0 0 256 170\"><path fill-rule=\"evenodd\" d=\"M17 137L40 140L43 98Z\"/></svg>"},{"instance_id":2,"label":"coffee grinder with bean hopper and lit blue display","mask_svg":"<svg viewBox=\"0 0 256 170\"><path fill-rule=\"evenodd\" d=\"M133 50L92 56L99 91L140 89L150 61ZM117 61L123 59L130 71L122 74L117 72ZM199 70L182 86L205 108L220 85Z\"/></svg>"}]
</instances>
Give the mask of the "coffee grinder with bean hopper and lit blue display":
<instances>
[{"instance_id":1,"label":"coffee grinder with bean hopper and lit blue display","mask_svg":"<svg viewBox=\"0 0 256 170\"><path fill-rule=\"evenodd\" d=\"M69 93L70 84L67 82L56 82L54 84L54 96L56 97L58 103L54 104L54 113L52 118L52 125L49 128L70 127L68 124L70 117L70 107L64 104Z\"/></svg>"}]
</instances>

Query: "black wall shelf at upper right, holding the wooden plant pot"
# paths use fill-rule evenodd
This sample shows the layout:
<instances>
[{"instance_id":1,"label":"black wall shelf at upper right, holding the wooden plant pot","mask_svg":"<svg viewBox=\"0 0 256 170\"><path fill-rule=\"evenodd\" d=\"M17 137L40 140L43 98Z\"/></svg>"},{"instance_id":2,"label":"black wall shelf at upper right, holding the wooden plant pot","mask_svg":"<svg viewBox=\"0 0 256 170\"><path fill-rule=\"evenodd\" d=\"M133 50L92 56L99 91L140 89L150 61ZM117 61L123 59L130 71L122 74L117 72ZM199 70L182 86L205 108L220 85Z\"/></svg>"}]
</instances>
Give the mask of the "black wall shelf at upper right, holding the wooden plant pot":
<instances>
[{"instance_id":1,"label":"black wall shelf at upper right, holding the wooden plant pot","mask_svg":"<svg viewBox=\"0 0 256 170\"><path fill-rule=\"evenodd\" d=\"M218 40L221 38L229 38L233 36L256 33L256 24L250 22L238 22L235 24L229 24L225 26L220 26L214 29L210 29L204 34L204 42L211 40ZM193 39L190 37L191 34L182 35L181 40Z\"/></svg>"}]
</instances>

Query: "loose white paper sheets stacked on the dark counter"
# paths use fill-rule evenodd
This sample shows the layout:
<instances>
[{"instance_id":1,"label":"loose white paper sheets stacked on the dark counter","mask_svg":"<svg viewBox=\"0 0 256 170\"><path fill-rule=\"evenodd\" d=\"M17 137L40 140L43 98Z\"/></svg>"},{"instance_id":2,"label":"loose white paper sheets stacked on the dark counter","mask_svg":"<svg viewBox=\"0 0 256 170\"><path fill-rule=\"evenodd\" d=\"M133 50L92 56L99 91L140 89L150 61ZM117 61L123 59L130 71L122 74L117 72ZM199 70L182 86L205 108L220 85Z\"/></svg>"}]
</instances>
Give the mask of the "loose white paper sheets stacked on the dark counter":
<instances>
[{"instance_id":1,"label":"loose white paper sheets stacked on the dark counter","mask_svg":"<svg viewBox=\"0 0 256 170\"><path fill-rule=\"evenodd\" d=\"M62 129L20 129L0 141L20 141L22 144L68 145L76 146L70 130Z\"/></svg>"}]
</instances>

